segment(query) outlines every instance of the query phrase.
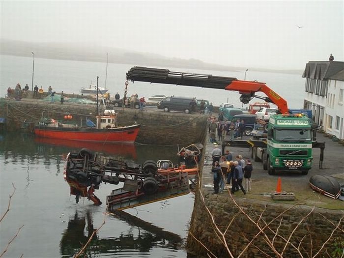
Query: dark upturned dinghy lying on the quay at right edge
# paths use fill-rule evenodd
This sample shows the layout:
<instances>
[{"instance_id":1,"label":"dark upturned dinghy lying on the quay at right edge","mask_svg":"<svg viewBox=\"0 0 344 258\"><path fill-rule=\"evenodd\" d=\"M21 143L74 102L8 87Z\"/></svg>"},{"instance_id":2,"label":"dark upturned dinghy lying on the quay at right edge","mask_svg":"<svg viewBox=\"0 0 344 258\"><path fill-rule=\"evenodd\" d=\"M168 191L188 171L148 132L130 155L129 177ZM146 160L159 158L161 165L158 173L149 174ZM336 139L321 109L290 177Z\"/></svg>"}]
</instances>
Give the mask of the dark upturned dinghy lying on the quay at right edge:
<instances>
[{"instance_id":1,"label":"dark upturned dinghy lying on the quay at right edge","mask_svg":"<svg viewBox=\"0 0 344 258\"><path fill-rule=\"evenodd\" d=\"M309 183L312 189L327 197L338 199L341 195L341 185L332 176L316 174Z\"/></svg>"}]
</instances>

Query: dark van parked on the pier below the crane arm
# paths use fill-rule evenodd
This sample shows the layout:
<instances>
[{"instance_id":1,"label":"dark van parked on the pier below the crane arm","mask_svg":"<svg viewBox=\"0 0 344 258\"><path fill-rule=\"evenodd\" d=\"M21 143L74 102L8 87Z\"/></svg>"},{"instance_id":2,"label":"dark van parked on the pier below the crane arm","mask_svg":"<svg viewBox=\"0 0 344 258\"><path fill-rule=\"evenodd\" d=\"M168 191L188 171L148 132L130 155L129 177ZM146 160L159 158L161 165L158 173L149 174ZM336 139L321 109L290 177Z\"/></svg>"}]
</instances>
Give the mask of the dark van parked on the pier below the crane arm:
<instances>
[{"instance_id":1,"label":"dark van parked on the pier below the crane arm","mask_svg":"<svg viewBox=\"0 0 344 258\"><path fill-rule=\"evenodd\" d=\"M188 97L166 97L158 103L158 109L162 109L165 112L169 111L181 111L186 114L191 113L190 102L193 98Z\"/></svg>"}]
</instances>

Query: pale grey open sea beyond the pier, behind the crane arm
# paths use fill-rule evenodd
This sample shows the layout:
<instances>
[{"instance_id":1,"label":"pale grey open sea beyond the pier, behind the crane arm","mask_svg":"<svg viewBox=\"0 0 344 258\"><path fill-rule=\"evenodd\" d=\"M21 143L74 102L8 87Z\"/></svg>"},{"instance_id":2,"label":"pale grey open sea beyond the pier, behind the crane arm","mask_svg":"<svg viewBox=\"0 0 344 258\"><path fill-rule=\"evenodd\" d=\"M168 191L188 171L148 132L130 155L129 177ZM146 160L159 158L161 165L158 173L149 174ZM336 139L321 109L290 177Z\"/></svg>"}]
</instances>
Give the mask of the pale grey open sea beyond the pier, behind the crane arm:
<instances>
[{"instance_id":1,"label":"pale grey open sea beyond the pier, behind the crane arm","mask_svg":"<svg viewBox=\"0 0 344 258\"><path fill-rule=\"evenodd\" d=\"M111 55L111 53L109 54ZM104 57L106 61L106 56ZM136 64L108 64L107 88L112 96L118 92L121 96L124 94L124 83L126 72ZM142 66L142 65L141 65ZM152 67L150 65L145 65ZM155 66L153 66L155 67ZM155 67L159 68L159 67ZM161 67L176 72L189 72L212 74L217 76L236 77L239 80L244 79L245 71L211 71L195 70L189 68ZM99 86L105 86L106 63L84 62L72 60L53 60L39 58L36 54L34 63L34 85L43 86L45 91L51 85L53 90L65 93L80 93L81 87L89 86L90 82L96 82L99 76ZM288 102L290 108L302 108L305 96L305 81L302 74L269 73L248 70L246 80L265 82L274 91L280 94ZM32 57L15 57L0 55L0 97L4 97L8 86L14 88L17 83L22 86L31 85L32 80ZM221 103L229 102L236 107L241 107L239 93L224 91L220 89L196 88L188 86L171 86L163 84L149 84L143 82L130 82L128 94L138 93L146 99L152 95L175 95L197 97L198 99L207 99L215 106ZM31 88L31 87L30 87ZM263 93L258 93L264 96ZM265 97L265 96L264 96ZM252 100L260 101L258 99Z\"/></svg>"}]
</instances>

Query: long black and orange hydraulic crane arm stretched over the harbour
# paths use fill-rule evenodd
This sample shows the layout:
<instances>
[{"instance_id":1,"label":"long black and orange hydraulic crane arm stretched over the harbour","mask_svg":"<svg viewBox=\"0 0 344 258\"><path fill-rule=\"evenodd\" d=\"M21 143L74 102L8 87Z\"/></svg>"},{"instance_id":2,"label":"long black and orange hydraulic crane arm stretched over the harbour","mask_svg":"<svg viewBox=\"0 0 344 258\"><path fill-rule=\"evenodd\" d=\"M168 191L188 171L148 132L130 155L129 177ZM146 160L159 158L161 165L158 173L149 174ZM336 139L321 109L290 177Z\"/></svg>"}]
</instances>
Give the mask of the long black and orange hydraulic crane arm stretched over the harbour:
<instances>
[{"instance_id":1,"label":"long black and orange hydraulic crane arm stretched over the harbour","mask_svg":"<svg viewBox=\"0 0 344 258\"><path fill-rule=\"evenodd\" d=\"M265 83L240 81L234 77L213 76L207 74L172 72L168 69L148 68L134 66L127 72L128 81L140 81L160 84L174 84L183 86L196 86L203 88L215 88L239 91L240 101L249 103L253 97L264 99L274 103L280 113L288 113L287 101L270 89ZM256 96L261 91L267 97Z\"/></svg>"}]
</instances>

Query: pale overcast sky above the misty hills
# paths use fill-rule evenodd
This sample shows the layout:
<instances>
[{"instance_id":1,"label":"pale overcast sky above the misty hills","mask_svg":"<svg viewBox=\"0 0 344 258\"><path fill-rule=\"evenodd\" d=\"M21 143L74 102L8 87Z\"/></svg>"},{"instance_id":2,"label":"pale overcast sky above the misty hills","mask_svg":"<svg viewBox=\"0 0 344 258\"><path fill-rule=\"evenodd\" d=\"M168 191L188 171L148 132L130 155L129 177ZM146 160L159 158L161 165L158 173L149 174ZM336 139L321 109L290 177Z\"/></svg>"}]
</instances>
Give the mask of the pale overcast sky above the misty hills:
<instances>
[{"instance_id":1,"label":"pale overcast sky above the misty hills","mask_svg":"<svg viewBox=\"0 0 344 258\"><path fill-rule=\"evenodd\" d=\"M0 38L303 69L344 60L343 2L1 0Z\"/></svg>"}]
</instances>

